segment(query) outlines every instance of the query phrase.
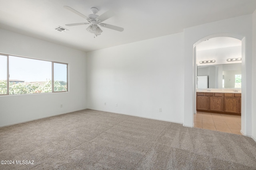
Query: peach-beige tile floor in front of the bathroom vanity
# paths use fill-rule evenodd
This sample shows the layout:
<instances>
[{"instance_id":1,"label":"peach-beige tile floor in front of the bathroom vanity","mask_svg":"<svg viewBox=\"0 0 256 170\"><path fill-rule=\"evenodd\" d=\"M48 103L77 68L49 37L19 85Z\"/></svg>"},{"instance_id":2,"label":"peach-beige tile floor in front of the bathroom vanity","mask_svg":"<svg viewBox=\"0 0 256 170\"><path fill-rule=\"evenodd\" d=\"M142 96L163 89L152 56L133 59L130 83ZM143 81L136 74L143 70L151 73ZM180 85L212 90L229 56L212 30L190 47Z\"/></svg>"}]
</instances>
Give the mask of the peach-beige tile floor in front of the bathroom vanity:
<instances>
[{"instance_id":1,"label":"peach-beige tile floor in front of the bathroom vanity","mask_svg":"<svg viewBox=\"0 0 256 170\"><path fill-rule=\"evenodd\" d=\"M206 113L198 111L194 114L194 127L242 135L241 116Z\"/></svg>"}]
</instances>

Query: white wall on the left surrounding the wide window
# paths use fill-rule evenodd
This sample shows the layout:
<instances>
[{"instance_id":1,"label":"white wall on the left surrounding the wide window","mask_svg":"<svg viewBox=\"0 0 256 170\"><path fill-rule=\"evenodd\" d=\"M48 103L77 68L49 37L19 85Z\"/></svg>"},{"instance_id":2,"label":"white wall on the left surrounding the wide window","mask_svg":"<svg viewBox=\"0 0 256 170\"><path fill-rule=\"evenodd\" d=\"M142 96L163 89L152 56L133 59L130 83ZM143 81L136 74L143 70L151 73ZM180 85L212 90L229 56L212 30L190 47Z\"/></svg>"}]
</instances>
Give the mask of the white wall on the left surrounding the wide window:
<instances>
[{"instance_id":1,"label":"white wall on the left surrounding the wide window","mask_svg":"<svg viewBox=\"0 0 256 170\"><path fill-rule=\"evenodd\" d=\"M63 62L69 66L69 92L0 96L0 126L86 108L85 52L4 29L0 29L0 37L0 53Z\"/></svg>"}]
</instances>

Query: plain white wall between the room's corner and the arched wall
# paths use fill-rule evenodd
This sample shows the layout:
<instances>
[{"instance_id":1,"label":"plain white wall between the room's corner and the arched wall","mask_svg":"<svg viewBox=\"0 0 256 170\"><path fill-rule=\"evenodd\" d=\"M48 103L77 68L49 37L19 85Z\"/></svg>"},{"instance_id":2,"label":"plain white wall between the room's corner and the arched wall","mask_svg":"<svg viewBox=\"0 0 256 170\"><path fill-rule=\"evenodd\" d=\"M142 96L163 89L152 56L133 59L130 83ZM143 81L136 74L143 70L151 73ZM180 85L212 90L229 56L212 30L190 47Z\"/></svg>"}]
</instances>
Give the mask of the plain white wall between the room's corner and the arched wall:
<instances>
[{"instance_id":1,"label":"plain white wall between the room's corner and the arched wall","mask_svg":"<svg viewBox=\"0 0 256 170\"><path fill-rule=\"evenodd\" d=\"M87 56L88 108L183 122L183 33Z\"/></svg>"}]
</instances>

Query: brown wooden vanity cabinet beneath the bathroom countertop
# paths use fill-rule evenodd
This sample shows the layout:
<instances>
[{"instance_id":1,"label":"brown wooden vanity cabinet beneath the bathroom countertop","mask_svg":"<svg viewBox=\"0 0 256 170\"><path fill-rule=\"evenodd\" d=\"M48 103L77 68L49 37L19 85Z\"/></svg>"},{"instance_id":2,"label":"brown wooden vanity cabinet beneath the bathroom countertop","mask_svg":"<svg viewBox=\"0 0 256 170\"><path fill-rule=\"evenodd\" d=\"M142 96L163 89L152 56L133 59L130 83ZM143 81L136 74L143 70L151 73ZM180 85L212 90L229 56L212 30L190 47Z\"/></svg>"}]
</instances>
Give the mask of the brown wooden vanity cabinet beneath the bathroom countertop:
<instances>
[{"instance_id":1,"label":"brown wooden vanity cabinet beneath the bathroom countertop","mask_svg":"<svg viewBox=\"0 0 256 170\"><path fill-rule=\"evenodd\" d=\"M196 110L241 115L241 94L197 92Z\"/></svg>"}]
</instances>

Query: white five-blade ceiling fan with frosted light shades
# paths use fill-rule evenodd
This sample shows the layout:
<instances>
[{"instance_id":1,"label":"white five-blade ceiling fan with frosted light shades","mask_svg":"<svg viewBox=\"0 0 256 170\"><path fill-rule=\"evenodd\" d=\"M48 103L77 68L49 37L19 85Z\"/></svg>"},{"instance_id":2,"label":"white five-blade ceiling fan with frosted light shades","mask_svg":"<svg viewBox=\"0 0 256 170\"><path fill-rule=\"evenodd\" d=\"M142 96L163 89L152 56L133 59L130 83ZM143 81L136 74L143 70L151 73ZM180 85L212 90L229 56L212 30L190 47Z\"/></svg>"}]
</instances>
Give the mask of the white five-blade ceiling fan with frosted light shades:
<instances>
[{"instance_id":1,"label":"white five-blade ceiling fan with frosted light shades","mask_svg":"<svg viewBox=\"0 0 256 170\"><path fill-rule=\"evenodd\" d=\"M94 33L94 35L96 35L96 36L98 36L102 33L102 30L100 29L100 27L98 25L100 25L101 27L114 29L114 30L120 31L120 32L124 31L124 28L122 28L122 27L118 27L118 26L115 26L115 25L110 25L110 24L107 24L107 23L102 23L102 21L105 21L108 18L114 16L114 12L112 12L111 10L108 10L104 14L98 16L98 15L96 15L97 12L99 11L98 8L92 7L91 11L92 11L93 14L89 14L88 15L89 17L87 17L84 14L81 14L80 12L74 10L73 8L71 8L69 6L63 6L63 7L66 8L67 10L70 10L71 12L74 12L75 14L81 16L82 18L84 18L88 21L88 23L87 22L85 22L85 23L70 23L70 24L66 24L66 26L90 24L89 27L86 28L86 30L90 33Z\"/></svg>"}]
</instances>

